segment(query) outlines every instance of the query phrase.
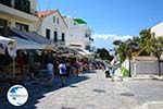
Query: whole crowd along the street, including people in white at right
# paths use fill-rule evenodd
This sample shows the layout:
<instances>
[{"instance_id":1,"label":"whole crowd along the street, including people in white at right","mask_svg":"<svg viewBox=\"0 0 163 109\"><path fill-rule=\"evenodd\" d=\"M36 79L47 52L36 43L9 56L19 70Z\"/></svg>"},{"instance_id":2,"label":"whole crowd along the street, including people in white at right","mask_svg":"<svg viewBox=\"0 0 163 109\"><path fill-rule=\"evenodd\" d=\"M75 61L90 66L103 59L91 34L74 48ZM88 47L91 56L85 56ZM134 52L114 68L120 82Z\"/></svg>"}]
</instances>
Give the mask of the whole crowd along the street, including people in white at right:
<instances>
[{"instance_id":1,"label":"whole crowd along the street, including people in white at right","mask_svg":"<svg viewBox=\"0 0 163 109\"><path fill-rule=\"evenodd\" d=\"M52 86L52 82L55 75L61 76L62 86L64 86L66 77L70 74L78 75L79 73L89 69L105 69L106 76L112 77L112 81L114 81L115 70L120 68L120 59L116 52L113 60L109 63L105 63L100 60L90 62L88 58L84 57L63 57L47 51L32 53L20 50L17 51L15 61L16 70L18 70L16 72L27 72L32 78L38 78L38 73L43 70L50 86Z\"/></svg>"}]
</instances>

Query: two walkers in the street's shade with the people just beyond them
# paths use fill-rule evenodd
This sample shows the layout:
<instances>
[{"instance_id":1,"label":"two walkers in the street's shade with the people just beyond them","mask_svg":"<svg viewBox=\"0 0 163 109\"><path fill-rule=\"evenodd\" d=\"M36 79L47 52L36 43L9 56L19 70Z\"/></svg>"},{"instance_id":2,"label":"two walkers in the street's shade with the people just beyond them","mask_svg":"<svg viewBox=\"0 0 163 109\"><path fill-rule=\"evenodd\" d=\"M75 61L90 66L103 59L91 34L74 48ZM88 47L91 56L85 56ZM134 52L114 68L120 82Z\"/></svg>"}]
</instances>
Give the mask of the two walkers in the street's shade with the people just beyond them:
<instances>
[{"instance_id":1,"label":"two walkers in the street's shade with the people just beyond them","mask_svg":"<svg viewBox=\"0 0 163 109\"><path fill-rule=\"evenodd\" d=\"M55 60L49 60L47 63L49 85L52 86L54 75L61 76L62 86L64 86L70 74L78 75L86 70L89 70L89 62L87 59L77 60L75 58L58 57Z\"/></svg>"}]
</instances>

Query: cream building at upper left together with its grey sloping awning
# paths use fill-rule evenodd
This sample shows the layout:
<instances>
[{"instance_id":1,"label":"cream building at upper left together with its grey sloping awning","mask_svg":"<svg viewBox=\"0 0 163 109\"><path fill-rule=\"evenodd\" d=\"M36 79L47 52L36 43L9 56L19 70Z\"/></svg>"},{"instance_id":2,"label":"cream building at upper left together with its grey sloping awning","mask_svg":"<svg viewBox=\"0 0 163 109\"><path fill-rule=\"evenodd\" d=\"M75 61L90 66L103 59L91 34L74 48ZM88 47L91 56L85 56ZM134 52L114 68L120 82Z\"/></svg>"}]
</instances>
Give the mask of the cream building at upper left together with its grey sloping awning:
<instances>
[{"instance_id":1,"label":"cream building at upper left together with its grey sloping awning","mask_svg":"<svg viewBox=\"0 0 163 109\"><path fill-rule=\"evenodd\" d=\"M36 0L0 0L0 35L21 37L53 49L50 40L36 33L40 22L36 10Z\"/></svg>"}]
</instances>

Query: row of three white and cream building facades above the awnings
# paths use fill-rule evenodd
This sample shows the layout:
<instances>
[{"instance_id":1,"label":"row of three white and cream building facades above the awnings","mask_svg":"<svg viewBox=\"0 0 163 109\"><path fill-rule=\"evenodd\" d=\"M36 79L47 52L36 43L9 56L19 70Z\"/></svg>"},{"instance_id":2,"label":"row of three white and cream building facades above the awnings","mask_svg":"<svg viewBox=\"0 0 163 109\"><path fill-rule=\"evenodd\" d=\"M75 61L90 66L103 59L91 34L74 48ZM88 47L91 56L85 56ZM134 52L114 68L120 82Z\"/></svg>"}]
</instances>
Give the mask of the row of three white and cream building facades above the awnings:
<instances>
[{"instance_id":1,"label":"row of three white and cream building facades above the awnings","mask_svg":"<svg viewBox=\"0 0 163 109\"><path fill-rule=\"evenodd\" d=\"M59 10L36 11L36 0L0 0L0 35L9 28L36 32L57 46L90 50L91 29L82 19L63 17Z\"/></svg>"}]
</instances>

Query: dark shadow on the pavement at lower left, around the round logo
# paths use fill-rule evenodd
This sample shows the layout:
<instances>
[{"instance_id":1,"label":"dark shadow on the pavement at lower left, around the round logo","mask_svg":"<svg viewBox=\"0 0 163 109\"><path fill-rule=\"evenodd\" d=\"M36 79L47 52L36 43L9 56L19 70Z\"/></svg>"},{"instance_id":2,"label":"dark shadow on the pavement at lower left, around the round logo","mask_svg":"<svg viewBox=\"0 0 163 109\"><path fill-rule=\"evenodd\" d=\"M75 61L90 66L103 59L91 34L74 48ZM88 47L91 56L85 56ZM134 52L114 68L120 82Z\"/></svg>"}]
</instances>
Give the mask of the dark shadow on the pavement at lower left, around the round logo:
<instances>
[{"instance_id":1,"label":"dark shadow on the pavement at lower left, around the round logo","mask_svg":"<svg viewBox=\"0 0 163 109\"><path fill-rule=\"evenodd\" d=\"M86 81L88 78L89 77L87 77L85 75L79 75L79 76L70 75L65 87L70 86L70 87L77 88L77 86L75 86L74 84ZM25 86L28 90L29 98L28 98L27 102L22 107L14 107L8 101L8 99L7 99L8 89L7 89L5 94L4 93L0 94L0 109L36 109L37 108L36 105L39 102L39 99L45 97L45 94L63 88L61 86L60 76L54 77L53 84L54 84L54 86L52 86L52 87L48 86L48 83ZM10 86L8 86L8 88Z\"/></svg>"}]
</instances>

